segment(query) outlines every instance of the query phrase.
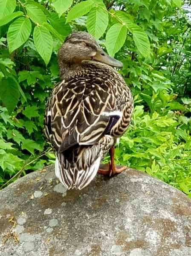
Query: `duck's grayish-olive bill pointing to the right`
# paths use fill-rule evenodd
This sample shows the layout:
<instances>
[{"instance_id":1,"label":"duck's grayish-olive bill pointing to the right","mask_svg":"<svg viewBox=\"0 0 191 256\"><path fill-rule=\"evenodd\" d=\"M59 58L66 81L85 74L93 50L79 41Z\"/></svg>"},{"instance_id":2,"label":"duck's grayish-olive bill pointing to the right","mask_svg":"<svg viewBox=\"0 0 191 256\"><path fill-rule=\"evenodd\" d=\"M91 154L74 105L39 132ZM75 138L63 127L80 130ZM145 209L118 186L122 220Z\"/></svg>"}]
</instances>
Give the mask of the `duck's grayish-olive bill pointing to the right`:
<instances>
[{"instance_id":1,"label":"duck's grayish-olive bill pointing to the right","mask_svg":"<svg viewBox=\"0 0 191 256\"><path fill-rule=\"evenodd\" d=\"M123 67L123 64L121 61L117 61L115 58L111 58L102 49L100 49L96 53L96 55L93 57L93 60L103 62L113 67Z\"/></svg>"}]
</instances>

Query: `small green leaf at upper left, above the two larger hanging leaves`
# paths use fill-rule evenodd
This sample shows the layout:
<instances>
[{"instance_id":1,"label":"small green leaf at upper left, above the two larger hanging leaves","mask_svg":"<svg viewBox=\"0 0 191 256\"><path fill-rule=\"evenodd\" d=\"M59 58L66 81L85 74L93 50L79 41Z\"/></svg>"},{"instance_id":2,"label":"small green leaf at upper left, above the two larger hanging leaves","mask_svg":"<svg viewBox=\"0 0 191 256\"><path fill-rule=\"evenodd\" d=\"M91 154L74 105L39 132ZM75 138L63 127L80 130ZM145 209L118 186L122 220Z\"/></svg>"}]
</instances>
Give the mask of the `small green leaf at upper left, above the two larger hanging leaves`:
<instances>
[{"instance_id":1,"label":"small green leaf at upper left, above the two larger hanging leaves","mask_svg":"<svg viewBox=\"0 0 191 256\"><path fill-rule=\"evenodd\" d=\"M33 22L40 25L46 22L46 16L37 5L32 3L26 4L26 10L27 10L27 14L32 19Z\"/></svg>"}]
</instances>

